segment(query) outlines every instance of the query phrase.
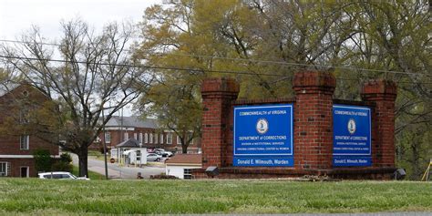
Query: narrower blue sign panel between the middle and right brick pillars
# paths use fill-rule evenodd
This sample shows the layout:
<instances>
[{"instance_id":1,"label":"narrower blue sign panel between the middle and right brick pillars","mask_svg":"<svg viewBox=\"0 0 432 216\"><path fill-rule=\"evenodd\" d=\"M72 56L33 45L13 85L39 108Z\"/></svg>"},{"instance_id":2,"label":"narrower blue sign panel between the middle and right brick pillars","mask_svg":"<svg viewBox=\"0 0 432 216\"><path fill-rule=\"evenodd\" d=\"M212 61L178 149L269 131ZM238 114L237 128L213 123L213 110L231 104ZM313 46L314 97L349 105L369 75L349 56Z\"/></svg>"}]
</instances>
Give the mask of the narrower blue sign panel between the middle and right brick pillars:
<instances>
[{"instance_id":1,"label":"narrower blue sign panel between the middle and right brick pillars","mask_svg":"<svg viewBox=\"0 0 432 216\"><path fill-rule=\"evenodd\" d=\"M371 109L333 106L333 166L371 166Z\"/></svg>"}]
</instances>

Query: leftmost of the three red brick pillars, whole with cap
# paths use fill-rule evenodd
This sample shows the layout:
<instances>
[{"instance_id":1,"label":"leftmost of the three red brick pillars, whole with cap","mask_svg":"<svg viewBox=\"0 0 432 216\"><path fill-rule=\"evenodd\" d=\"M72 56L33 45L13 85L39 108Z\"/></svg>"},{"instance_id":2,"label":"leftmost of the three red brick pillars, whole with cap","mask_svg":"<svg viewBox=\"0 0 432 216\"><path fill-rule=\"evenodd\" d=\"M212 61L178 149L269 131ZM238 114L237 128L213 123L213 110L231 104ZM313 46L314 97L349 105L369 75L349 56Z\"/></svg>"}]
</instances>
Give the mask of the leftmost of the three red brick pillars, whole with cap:
<instances>
[{"instance_id":1,"label":"leftmost of the three red brick pillars, whole with cap","mask_svg":"<svg viewBox=\"0 0 432 216\"><path fill-rule=\"evenodd\" d=\"M231 104L239 94L239 84L231 78L207 78L202 82L202 167L226 166L226 146L230 134Z\"/></svg>"}]
</instances>

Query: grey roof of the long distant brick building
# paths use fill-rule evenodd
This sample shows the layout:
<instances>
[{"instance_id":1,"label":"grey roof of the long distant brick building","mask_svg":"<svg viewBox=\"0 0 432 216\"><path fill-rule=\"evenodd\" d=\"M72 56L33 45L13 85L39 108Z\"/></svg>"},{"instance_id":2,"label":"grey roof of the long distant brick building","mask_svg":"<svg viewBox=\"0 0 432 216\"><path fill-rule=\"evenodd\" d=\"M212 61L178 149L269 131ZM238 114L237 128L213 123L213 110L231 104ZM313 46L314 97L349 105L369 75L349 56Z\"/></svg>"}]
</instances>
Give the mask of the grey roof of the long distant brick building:
<instances>
[{"instance_id":1,"label":"grey roof of the long distant brick building","mask_svg":"<svg viewBox=\"0 0 432 216\"><path fill-rule=\"evenodd\" d=\"M112 116L105 127L145 128L158 129L157 119L140 117Z\"/></svg>"}]
</instances>

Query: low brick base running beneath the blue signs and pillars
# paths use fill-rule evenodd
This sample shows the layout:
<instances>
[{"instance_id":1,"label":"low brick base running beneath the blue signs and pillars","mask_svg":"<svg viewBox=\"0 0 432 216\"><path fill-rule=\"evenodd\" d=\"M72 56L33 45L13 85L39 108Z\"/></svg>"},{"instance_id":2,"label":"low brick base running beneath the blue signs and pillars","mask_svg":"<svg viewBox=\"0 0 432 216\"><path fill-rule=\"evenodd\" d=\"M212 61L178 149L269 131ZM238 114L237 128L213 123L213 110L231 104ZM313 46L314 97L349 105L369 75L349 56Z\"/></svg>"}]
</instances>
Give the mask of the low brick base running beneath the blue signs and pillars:
<instances>
[{"instance_id":1,"label":"low brick base running beneath the blue signs and pillars","mask_svg":"<svg viewBox=\"0 0 432 216\"><path fill-rule=\"evenodd\" d=\"M396 168L337 168L334 170L296 170L289 168L219 168L219 175L208 176L205 169L192 170L195 179L269 179L303 176L328 177L338 180L392 180Z\"/></svg>"}]
</instances>

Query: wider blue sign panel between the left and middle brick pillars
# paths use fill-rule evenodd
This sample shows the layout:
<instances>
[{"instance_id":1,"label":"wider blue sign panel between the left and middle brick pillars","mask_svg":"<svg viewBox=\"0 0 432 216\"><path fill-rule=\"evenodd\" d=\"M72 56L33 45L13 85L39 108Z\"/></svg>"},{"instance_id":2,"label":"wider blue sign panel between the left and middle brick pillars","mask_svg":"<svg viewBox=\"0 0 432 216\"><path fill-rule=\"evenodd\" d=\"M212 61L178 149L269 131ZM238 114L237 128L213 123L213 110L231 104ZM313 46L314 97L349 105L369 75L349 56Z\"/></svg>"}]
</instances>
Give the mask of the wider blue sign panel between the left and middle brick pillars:
<instances>
[{"instance_id":1,"label":"wider blue sign panel between the left and middle brick pillars","mask_svg":"<svg viewBox=\"0 0 432 216\"><path fill-rule=\"evenodd\" d=\"M234 108L234 166L293 167L293 104Z\"/></svg>"}]
</instances>

